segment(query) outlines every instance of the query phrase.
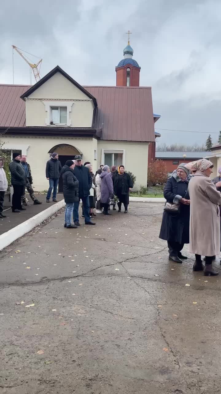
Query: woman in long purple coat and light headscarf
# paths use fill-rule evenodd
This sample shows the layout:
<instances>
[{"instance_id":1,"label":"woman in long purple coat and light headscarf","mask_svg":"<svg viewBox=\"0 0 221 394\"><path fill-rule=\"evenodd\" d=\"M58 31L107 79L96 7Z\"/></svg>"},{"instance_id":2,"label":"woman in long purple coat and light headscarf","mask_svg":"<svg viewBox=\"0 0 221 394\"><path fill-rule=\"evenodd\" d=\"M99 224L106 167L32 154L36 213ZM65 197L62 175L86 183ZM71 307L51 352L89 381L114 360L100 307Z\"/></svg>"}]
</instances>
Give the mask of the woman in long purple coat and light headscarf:
<instances>
[{"instance_id":1,"label":"woman in long purple coat and light headscarf","mask_svg":"<svg viewBox=\"0 0 221 394\"><path fill-rule=\"evenodd\" d=\"M110 197L113 195L113 182L110 174L110 168L105 165L100 175L101 178L101 204L103 206L103 213L105 215L111 215L108 212L108 204L110 203Z\"/></svg>"}]
</instances>

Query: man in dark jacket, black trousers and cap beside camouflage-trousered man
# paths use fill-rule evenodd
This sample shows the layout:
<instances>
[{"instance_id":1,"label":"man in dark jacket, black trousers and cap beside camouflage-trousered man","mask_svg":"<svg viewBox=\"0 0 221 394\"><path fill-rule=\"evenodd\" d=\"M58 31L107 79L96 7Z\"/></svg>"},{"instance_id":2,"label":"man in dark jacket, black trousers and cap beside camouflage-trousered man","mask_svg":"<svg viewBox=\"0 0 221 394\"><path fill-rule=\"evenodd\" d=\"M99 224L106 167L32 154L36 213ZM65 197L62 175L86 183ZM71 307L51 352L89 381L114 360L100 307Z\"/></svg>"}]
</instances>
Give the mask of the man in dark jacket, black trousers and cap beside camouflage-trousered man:
<instances>
[{"instance_id":1,"label":"man in dark jacket, black trousers and cap beside camouflage-trousered man","mask_svg":"<svg viewBox=\"0 0 221 394\"><path fill-rule=\"evenodd\" d=\"M9 170L11 173L11 184L13 186L12 196L12 212L20 212L26 208L22 207L22 193L24 186L27 183L26 172L20 164L21 156L18 152L13 152L12 162L9 164Z\"/></svg>"}]
</instances>

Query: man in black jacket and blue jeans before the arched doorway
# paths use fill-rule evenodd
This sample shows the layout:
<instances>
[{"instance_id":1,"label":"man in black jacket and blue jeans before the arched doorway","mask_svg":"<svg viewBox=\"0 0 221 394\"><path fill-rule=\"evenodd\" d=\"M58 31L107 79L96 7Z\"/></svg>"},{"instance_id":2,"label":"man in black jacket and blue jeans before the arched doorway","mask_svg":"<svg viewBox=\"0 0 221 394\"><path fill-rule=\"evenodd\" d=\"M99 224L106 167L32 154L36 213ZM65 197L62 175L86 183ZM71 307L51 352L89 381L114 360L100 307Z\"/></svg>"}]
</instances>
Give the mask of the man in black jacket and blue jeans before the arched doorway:
<instances>
[{"instance_id":1,"label":"man in black jacket and blue jeans before the arched doorway","mask_svg":"<svg viewBox=\"0 0 221 394\"><path fill-rule=\"evenodd\" d=\"M57 203L57 185L59 177L61 175L61 162L58 160L58 154L56 152L52 153L52 157L47 161L46 164L46 178L49 180L49 189L46 197L46 202L50 203L50 197L53 189L52 200Z\"/></svg>"}]
</instances>

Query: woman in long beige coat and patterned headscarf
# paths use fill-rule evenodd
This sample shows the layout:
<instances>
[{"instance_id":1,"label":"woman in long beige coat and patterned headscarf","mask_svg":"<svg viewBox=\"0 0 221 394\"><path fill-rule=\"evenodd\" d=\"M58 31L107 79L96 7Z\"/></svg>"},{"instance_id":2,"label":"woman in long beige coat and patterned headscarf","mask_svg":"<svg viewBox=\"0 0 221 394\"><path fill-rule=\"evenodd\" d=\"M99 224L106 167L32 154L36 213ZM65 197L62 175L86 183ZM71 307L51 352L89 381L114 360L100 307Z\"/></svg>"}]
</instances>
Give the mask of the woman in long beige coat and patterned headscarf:
<instances>
[{"instance_id":1,"label":"woman in long beige coat and patterned headscarf","mask_svg":"<svg viewBox=\"0 0 221 394\"><path fill-rule=\"evenodd\" d=\"M221 193L216 190L210 174L213 164L197 160L192 165L196 171L189 182L190 194L190 253L195 253L193 271L203 271L201 255L206 256L204 275L218 275L212 267L213 256L220 253Z\"/></svg>"}]
</instances>

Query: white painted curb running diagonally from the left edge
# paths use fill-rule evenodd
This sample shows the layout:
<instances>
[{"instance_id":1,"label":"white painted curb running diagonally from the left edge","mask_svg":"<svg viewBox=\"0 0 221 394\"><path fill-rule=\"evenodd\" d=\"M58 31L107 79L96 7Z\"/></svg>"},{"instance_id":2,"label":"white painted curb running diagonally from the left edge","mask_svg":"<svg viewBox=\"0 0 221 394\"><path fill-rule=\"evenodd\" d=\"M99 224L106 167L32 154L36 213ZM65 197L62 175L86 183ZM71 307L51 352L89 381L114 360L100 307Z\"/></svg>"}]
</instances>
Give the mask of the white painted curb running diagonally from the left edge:
<instances>
[{"instance_id":1,"label":"white painted curb running diagonally from the left edge","mask_svg":"<svg viewBox=\"0 0 221 394\"><path fill-rule=\"evenodd\" d=\"M23 223L20 223L13 229L4 232L4 234L0 235L0 250L4 249L4 247L10 245L10 243L22 237L22 235L31 231L34 227L38 226L40 223L42 223L42 221L55 214L55 212L57 212L64 206L65 202L64 200L61 200L58 203L53 204L49 208L46 208L39 214L30 217L30 219L24 221Z\"/></svg>"}]
</instances>

